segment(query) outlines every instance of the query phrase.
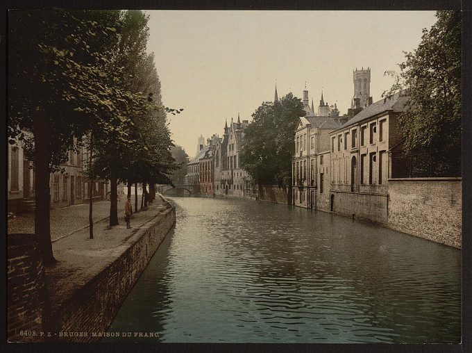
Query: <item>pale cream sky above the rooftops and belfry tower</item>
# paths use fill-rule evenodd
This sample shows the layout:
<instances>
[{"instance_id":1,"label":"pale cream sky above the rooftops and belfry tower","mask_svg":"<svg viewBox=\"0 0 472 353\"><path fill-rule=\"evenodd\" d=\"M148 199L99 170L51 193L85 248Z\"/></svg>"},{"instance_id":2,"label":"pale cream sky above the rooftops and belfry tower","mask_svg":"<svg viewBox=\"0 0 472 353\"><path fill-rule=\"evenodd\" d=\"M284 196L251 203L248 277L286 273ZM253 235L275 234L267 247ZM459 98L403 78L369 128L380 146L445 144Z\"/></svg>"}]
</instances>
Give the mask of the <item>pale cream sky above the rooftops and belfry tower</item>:
<instances>
[{"instance_id":1,"label":"pale cream sky above the rooftops and belfry tower","mask_svg":"<svg viewBox=\"0 0 472 353\"><path fill-rule=\"evenodd\" d=\"M381 99L398 71L403 51L421 41L434 11L146 11L148 51L162 83L162 101L184 108L168 115L172 138L190 158L197 138L223 135L237 113L241 120L263 101L293 92L305 81L315 111L321 90L328 104L347 113L353 69L371 68L371 96ZM276 81L277 80L277 81Z\"/></svg>"}]
</instances>

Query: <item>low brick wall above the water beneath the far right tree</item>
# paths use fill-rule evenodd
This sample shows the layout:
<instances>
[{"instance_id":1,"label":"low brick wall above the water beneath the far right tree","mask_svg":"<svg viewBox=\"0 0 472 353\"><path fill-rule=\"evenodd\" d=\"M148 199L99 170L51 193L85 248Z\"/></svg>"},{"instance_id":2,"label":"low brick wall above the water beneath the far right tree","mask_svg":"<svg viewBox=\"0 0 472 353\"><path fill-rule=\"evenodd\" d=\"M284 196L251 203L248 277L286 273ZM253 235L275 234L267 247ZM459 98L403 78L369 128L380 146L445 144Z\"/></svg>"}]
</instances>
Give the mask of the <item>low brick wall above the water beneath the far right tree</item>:
<instances>
[{"instance_id":1,"label":"low brick wall above the water beneath the far right tree","mask_svg":"<svg viewBox=\"0 0 472 353\"><path fill-rule=\"evenodd\" d=\"M460 178L389 179L387 227L462 247Z\"/></svg>"}]
</instances>

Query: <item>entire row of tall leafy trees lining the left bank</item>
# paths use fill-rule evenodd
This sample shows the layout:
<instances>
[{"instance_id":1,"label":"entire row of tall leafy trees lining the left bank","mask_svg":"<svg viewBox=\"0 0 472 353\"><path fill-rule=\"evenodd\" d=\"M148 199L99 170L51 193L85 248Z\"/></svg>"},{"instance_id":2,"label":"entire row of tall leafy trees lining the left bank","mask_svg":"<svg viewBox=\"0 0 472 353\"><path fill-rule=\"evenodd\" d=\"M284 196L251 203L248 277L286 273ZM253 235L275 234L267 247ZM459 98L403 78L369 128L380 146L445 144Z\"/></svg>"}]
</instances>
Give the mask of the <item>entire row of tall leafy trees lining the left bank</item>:
<instances>
[{"instance_id":1,"label":"entire row of tall leafy trees lining the left bank","mask_svg":"<svg viewBox=\"0 0 472 353\"><path fill-rule=\"evenodd\" d=\"M8 132L34 163L35 233L45 263L53 263L50 172L87 145L88 177L110 180L116 225L119 181L144 188L169 181L176 164L166 113L180 110L162 106L141 11L22 10L9 19Z\"/></svg>"}]
</instances>

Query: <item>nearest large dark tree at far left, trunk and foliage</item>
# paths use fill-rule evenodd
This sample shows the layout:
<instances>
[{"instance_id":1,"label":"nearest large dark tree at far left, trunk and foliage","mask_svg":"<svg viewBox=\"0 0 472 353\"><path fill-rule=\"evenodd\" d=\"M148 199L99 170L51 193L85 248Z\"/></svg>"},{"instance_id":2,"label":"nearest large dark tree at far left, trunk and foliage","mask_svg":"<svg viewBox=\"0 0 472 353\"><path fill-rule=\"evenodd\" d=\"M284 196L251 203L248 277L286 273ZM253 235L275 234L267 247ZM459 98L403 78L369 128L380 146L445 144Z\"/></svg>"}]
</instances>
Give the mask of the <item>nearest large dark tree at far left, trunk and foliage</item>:
<instances>
[{"instance_id":1,"label":"nearest large dark tree at far left, trunk and foliage","mask_svg":"<svg viewBox=\"0 0 472 353\"><path fill-rule=\"evenodd\" d=\"M127 92L107 87L108 44L119 11L27 10L10 13L10 138L25 140L36 170L35 233L44 263L55 262L49 223L49 173L90 126L108 129L123 122ZM119 122L119 124L117 124ZM24 134L22 131L26 131ZM119 136L121 138L122 136Z\"/></svg>"}]
</instances>

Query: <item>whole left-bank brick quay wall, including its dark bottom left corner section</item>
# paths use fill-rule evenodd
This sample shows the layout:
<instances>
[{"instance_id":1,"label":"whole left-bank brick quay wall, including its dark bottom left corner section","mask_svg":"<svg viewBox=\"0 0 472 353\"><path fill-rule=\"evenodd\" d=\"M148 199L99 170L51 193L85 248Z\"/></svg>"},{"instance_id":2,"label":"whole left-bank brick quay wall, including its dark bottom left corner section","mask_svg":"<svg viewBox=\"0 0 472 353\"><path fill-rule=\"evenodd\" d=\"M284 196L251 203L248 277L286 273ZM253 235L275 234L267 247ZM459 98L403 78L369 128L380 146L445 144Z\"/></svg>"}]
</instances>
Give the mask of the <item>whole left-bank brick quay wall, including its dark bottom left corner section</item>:
<instances>
[{"instance_id":1,"label":"whole left-bank brick quay wall, including its dark bottom left corner section","mask_svg":"<svg viewBox=\"0 0 472 353\"><path fill-rule=\"evenodd\" d=\"M8 340L81 343L100 340L101 336L91 333L108 329L155 250L176 222L175 207L166 200L164 204L167 208L126 238L130 245L124 245L126 249L115 261L55 309L51 309L49 302L46 274L34 234L8 235ZM58 335L48 338L47 332Z\"/></svg>"}]
</instances>

